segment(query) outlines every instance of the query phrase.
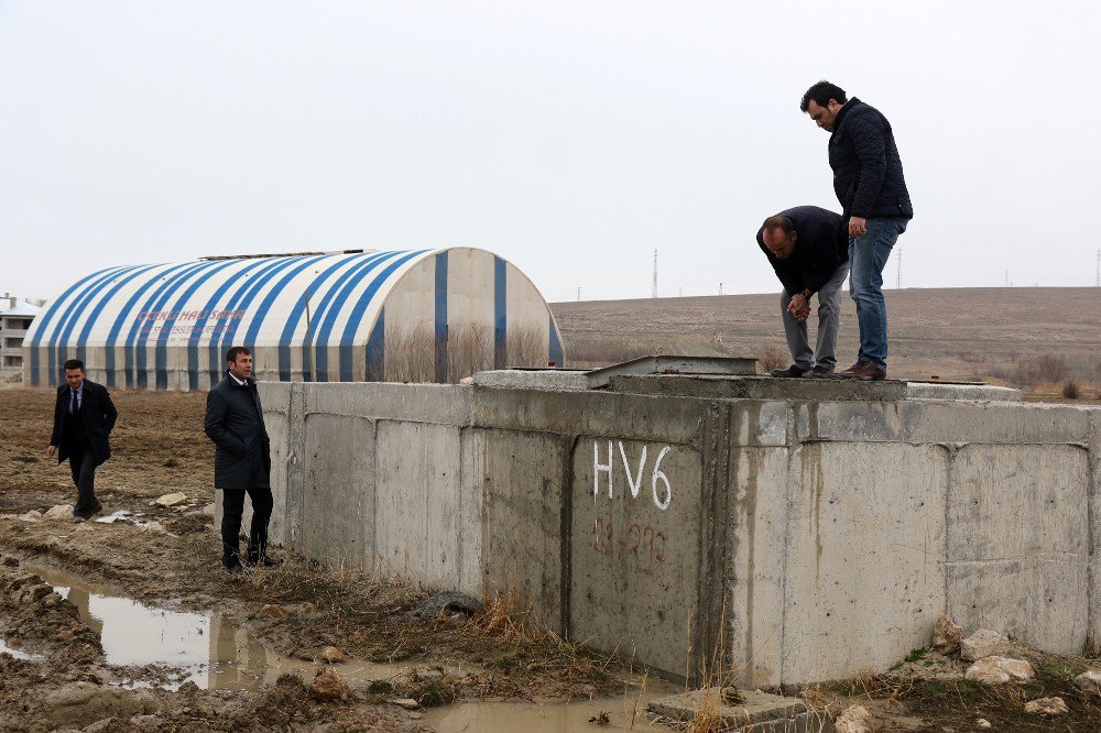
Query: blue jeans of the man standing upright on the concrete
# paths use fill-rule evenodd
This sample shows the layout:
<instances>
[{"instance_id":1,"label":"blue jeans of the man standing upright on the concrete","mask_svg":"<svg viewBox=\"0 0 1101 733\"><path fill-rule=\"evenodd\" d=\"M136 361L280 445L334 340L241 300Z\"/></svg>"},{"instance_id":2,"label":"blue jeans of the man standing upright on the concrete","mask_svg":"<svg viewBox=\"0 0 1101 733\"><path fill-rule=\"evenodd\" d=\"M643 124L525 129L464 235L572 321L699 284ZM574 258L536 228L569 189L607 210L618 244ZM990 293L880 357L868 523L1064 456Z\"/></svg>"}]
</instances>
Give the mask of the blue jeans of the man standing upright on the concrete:
<instances>
[{"instance_id":1,"label":"blue jeans of the man standing upright on the concrete","mask_svg":"<svg viewBox=\"0 0 1101 733\"><path fill-rule=\"evenodd\" d=\"M849 240L849 295L857 304L860 354L857 361L887 370L887 306L883 302L883 267L907 219L869 219L868 232Z\"/></svg>"}]
</instances>

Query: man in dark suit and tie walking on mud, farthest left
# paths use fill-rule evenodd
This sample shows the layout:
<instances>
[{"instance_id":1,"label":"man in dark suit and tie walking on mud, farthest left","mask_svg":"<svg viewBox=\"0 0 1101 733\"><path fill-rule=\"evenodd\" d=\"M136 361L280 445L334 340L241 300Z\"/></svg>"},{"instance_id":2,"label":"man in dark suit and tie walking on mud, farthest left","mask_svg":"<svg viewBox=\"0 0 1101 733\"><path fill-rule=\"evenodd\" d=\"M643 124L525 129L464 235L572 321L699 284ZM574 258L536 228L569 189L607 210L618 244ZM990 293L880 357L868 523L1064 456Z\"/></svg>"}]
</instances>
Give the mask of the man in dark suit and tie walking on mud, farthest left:
<instances>
[{"instance_id":1,"label":"man in dark suit and tie walking on mud, farthest left","mask_svg":"<svg viewBox=\"0 0 1101 733\"><path fill-rule=\"evenodd\" d=\"M103 505L96 499L96 467L111 457L110 436L119 413L107 387L85 379L84 362L69 359L63 366L65 384L57 387L54 431L46 453L66 458L76 484L75 522L87 522Z\"/></svg>"}]
</instances>

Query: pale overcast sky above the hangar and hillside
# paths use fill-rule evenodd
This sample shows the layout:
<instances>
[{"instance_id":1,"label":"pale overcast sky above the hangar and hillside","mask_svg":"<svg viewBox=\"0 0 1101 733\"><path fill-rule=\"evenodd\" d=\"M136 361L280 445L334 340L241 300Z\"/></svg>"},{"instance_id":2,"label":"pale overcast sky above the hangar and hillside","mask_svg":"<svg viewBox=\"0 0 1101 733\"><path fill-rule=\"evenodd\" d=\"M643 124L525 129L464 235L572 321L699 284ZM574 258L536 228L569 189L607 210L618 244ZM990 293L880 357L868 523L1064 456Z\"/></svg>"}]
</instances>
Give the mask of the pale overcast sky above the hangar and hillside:
<instances>
[{"instance_id":1,"label":"pale overcast sky above the hangar and hillside","mask_svg":"<svg viewBox=\"0 0 1101 733\"><path fill-rule=\"evenodd\" d=\"M904 287L1092 285L1101 3L0 0L0 291L469 245L549 300L778 291L838 209L820 78L895 130ZM896 283L896 256L885 284Z\"/></svg>"}]
</instances>

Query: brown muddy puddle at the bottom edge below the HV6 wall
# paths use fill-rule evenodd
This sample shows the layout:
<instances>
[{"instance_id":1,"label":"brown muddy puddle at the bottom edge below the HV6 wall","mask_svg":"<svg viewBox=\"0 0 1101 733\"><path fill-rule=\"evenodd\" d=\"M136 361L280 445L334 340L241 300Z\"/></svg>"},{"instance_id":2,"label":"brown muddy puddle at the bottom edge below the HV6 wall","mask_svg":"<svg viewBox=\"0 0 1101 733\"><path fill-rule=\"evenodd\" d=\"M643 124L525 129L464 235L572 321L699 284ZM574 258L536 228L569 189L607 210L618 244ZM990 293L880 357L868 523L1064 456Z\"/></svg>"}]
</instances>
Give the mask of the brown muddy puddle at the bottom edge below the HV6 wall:
<instances>
[{"instance_id":1,"label":"brown muddy puddle at the bottom edge below the HV6 wall","mask_svg":"<svg viewBox=\"0 0 1101 733\"><path fill-rule=\"evenodd\" d=\"M622 696L569 703L462 702L436 708L424 719L439 733L570 733L573 731L650 730L646 704L683 692L664 680L625 681ZM604 722L603 715L607 715Z\"/></svg>"}]
</instances>

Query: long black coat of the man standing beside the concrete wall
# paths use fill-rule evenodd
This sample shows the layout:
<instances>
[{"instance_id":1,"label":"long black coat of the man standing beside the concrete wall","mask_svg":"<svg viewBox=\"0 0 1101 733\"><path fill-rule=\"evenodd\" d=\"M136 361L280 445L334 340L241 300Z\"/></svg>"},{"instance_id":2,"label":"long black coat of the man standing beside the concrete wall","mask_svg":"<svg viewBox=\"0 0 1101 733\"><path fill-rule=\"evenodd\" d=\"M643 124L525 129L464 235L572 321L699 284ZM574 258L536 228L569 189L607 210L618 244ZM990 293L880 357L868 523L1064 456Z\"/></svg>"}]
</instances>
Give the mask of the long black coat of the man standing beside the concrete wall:
<instances>
[{"instance_id":1,"label":"long black coat of the man standing beside the concrete wall","mask_svg":"<svg viewBox=\"0 0 1101 733\"><path fill-rule=\"evenodd\" d=\"M257 382L244 385L226 376L207 393L203 431L217 446L214 456L215 489L269 486L271 441L264 428Z\"/></svg>"}]
</instances>

